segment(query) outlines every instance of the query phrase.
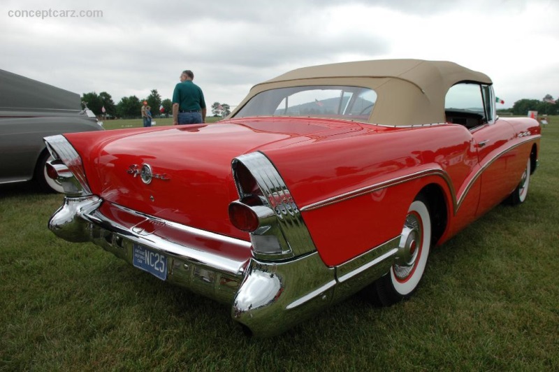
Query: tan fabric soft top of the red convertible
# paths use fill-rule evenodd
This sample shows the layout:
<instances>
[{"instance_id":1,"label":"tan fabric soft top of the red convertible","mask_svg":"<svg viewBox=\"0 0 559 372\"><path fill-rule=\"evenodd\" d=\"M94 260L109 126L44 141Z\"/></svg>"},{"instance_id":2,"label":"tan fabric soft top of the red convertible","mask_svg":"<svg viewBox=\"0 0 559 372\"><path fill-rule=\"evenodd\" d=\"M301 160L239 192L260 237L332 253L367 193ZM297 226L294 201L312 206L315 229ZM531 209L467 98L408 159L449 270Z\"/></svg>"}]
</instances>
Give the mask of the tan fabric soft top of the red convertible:
<instances>
[{"instance_id":1,"label":"tan fabric soft top of the red convertible","mask_svg":"<svg viewBox=\"0 0 559 372\"><path fill-rule=\"evenodd\" d=\"M379 59L303 67L254 85L235 112L266 90L301 85L350 85L377 92L369 122L413 125L444 122L444 97L463 81L491 85L484 73L453 62L421 59Z\"/></svg>"}]
</instances>

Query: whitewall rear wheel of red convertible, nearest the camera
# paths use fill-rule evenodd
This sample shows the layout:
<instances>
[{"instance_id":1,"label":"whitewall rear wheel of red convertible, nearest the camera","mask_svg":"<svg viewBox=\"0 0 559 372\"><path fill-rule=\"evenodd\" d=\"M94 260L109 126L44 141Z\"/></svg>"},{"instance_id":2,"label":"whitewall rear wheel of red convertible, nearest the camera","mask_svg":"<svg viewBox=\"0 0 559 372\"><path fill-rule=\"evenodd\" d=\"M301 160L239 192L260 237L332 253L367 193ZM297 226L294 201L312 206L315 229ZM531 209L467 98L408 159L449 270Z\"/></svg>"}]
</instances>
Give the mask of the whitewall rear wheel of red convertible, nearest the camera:
<instances>
[{"instance_id":1,"label":"whitewall rear wheel of red convertible, nearest the camera","mask_svg":"<svg viewBox=\"0 0 559 372\"><path fill-rule=\"evenodd\" d=\"M395 264L365 293L378 306L405 301L416 291L431 246L431 219L426 201L416 199L407 210Z\"/></svg>"}]
</instances>

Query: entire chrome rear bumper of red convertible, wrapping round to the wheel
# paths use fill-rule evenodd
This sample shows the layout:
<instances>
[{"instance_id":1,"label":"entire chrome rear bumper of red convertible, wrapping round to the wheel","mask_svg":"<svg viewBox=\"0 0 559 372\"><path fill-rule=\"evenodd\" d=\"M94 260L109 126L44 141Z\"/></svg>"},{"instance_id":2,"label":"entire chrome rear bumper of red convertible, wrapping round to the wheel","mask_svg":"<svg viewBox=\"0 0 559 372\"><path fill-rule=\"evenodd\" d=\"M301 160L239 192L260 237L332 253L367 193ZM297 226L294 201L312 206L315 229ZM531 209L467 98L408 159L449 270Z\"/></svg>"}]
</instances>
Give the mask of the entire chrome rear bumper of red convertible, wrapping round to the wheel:
<instances>
[{"instance_id":1,"label":"entire chrome rear bumper of red convertible, wrapping round to the wheel","mask_svg":"<svg viewBox=\"0 0 559 372\"><path fill-rule=\"evenodd\" d=\"M255 336L282 333L354 294L389 271L398 253L400 236L336 267L324 265L316 250L284 262L261 262L251 257L247 241L111 205L119 215L143 221L124 226L101 213L102 203L96 196L66 197L49 229L66 241L92 241L129 264L134 243L163 253L168 282L230 303L233 319ZM212 252L207 248L212 242L227 249ZM222 254L235 250L246 255Z\"/></svg>"}]
</instances>

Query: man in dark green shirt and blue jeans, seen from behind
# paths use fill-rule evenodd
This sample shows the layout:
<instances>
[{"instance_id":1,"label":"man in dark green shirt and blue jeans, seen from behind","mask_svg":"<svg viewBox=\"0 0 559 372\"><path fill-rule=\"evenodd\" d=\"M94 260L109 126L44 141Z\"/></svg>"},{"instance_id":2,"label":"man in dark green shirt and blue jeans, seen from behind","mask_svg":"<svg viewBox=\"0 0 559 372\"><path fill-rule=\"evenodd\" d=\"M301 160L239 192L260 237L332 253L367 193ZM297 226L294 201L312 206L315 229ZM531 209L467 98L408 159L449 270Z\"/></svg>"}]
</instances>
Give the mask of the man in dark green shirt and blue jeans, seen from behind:
<instances>
[{"instance_id":1,"label":"man in dark green shirt and blue jeans, seen from behind","mask_svg":"<svg viewBox=\"0 0 559 372\"><path fill-rule=\"evenodd\" d=\"M180 83L173 91L173 125L205 123L204 94L198 85L192 82L194 73L184 70L180 74Z\"/></svg>"}]
</instances>

